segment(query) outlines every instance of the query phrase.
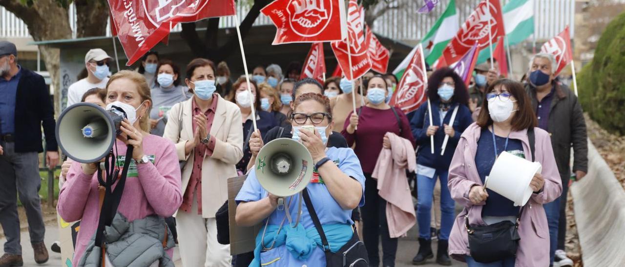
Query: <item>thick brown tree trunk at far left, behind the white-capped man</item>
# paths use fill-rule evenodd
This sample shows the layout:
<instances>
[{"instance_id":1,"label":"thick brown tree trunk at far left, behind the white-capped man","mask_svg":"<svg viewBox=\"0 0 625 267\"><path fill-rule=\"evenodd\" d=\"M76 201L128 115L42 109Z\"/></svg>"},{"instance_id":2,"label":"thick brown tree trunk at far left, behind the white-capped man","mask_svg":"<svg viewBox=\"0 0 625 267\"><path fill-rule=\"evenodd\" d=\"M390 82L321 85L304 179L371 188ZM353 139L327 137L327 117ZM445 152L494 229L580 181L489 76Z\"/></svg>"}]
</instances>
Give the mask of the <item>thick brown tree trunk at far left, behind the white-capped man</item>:
<instances>
[{"instance_id":1,"label":"thick brown tree trunk at far left, behind the white-capped man","mask_svg":"<svg viewBox=\"0 0 625 267\"><path fill-rule=\"evenodd\" d=\"M21 4L19 0L0 0L0 6L22 19L28 26L28 31L34 41L70 39L68 10L56 0L37 0L32 6ZM54 113L59 114L59 51L45 46L39 46L39 51L46 62L46 68L52 78L54 86ZM18 59L19 61L19 59Z\"/></svg>"}]
</instances>

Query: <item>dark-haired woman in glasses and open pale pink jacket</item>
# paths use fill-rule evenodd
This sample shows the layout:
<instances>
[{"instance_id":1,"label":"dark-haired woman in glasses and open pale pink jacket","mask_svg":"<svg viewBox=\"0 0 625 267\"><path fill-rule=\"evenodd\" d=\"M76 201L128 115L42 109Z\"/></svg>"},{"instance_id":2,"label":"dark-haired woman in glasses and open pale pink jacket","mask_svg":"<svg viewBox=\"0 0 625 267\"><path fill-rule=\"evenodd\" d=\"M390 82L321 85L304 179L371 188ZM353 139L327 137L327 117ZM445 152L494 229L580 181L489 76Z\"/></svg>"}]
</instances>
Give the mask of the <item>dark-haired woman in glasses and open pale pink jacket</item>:
<instances>
[{"instance_id":1,"label":"dark-haired woman in glasses and open pale pink jacket","mask_svg":"<svg viewBox=\"0 0 625 267\"><path fill-rule=\"evenodd\" d=\"M462 134L449 167L451 197L464 206L449 236L449 255L456 260L468 266L549 266L549 230L542 205L559 197L562 185L549 134L536 125L522 84L502 79L486 89L479 118ZM501 153L534 163L522 160L495 178L491 169L499 164L495 162ZM519 174L519 165L537 163L542 170L538 168L533 177ZM488 180L485 189L489 175L509 179L513 187L509 191L516 195L531 188L529 200L499 195L490 189L494 180Z\"/></svg>"}]
</instances>

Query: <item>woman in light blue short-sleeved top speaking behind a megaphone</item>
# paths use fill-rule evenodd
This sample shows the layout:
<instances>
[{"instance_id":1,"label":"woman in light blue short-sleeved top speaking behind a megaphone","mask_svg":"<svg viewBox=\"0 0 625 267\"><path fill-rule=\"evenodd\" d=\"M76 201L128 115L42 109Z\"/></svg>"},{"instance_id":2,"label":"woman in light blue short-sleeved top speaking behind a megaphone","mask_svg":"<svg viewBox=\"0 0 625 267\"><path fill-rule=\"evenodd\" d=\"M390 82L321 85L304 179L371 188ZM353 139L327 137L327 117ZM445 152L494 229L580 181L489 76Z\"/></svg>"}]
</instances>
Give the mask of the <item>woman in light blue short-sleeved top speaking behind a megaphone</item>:
<instances>
[{"instance_id":1,"label":"woman in light blue short-sleeved top speaking behind a megaphone","mask_svg":"<svg viewBox=\"0 0 625 267\"><path fill-rule=\"evenodd\" d=\"M287 197L284 207L279 208L277 197L261 187L257 168L251 168L235 198L239 203L237 225L253 226L261 221L266 225L256 238L250 266L326 266L337 260L342 263L339 251L346 251L348 260L352 253L361 258L350 260L347 265L367 266L364 245L358 241L351 220L352 210L364 204L364 175L353 150L326 147L333 126L329 99L314 93L299 95L291 124L292 139L310 152L314 173L302 191L303 200L297 195ZM290 218L298 217L299 201L306 205L301 206L301 218L293 228L284 218L288 217L286 212Z\"/></svg>"}]
</instances>

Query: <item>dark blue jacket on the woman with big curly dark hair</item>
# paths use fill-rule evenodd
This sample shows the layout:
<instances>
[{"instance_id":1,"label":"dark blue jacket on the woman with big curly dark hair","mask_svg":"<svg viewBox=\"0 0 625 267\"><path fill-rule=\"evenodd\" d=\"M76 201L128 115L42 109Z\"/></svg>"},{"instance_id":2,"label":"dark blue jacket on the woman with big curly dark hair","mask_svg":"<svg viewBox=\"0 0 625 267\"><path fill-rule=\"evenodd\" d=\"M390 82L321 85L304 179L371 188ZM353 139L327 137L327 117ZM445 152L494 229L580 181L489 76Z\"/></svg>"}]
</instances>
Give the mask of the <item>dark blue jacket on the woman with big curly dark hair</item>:
<instances>
[{"instance_id":1,"label":"dark blue jacket on the woman with big curly dark hair","mask_svg":"<svg viewBox=\"0 0 625 267\"><path fill-rule=\"evenodd\" d=\"M445 115L443 124L449 125L451 114L454 112L457 105L459 104L454 103L451 105L449 112ZM421 105L421 107L414 112L414 116L412 117L412 120L410 120L410 128L412 129L412 136L419 146L419 149L417 150L417 164L436 168L437 170L446 170L449 168L451 158L454 156L456 145L460 140L460 135L462 135L462 132L464 132L464 130L472 124L473 120L471 119L471 111L469 108L466 107L466 105L460 105L458 107L456 120L454 120L453 125L456 134L453 137L449 137L445 153L441 156L442 141L445 138L445 130L441 124L441 115L439 113L438 106L438 101L432 102L432 121L434 122L434 125L439 126L436 134L434 134L434 155L432 155L430 148L430 138L426 135L427 127L430 125L427 103Z\"/></svg>"}]
</instances>

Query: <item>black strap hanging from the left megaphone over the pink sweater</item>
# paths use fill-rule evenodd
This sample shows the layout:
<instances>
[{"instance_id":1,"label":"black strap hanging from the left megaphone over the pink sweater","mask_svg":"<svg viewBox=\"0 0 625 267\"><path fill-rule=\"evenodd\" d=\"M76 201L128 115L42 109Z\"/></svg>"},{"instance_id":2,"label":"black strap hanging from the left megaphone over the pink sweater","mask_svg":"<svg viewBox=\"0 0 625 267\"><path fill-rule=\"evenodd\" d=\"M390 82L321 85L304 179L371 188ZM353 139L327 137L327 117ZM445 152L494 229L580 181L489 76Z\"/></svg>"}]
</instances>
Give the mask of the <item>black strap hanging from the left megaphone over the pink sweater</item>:
<instances>
[{"instance_id":1,"label":"black strap hanging from the left megaphone over the pink sweater","mask_svg":"<svg viewBox=\"0 0 625 267\"><path fill-rule=\"evenodd\" d=\"M105 189L104 201L102 204L102 208L100 210L100 218L98 221L98 230L96 231L96 240L95 240L95 245L100 246L101 248L104 247L103 238L104 238L105 226L110 226L111 223L113 222L113 218L115 214L117 213L122 194L124 193L124 187L126 185L126 176L128 175L128 168L130 167L130 162L133 158L133 148L134 147L132 145L128 145L128 150L126 150L126 158L124 158L124 167L122 169L121 177L119 177L119 182L117 183L115 190L113 190L112 183L107 182L104 185L104 189ZM113 158L114 157L115 156L113 155ZM115 161L113 160L113 166L114 166L114 162ZM108 158L105 163L105 166L106 165L108 165ZM108 168L108 166L106 166L106 168ZM111 172L107 173L107 180L113 178L113 177L109 177L110 173ZM115 171L113 172L113 175L116 176L117 173L118 172ZM98 176L101 177L101 175L102 175L101 170L99 170L99 167L98 167Z\"/></svg>"}]
</instances>

